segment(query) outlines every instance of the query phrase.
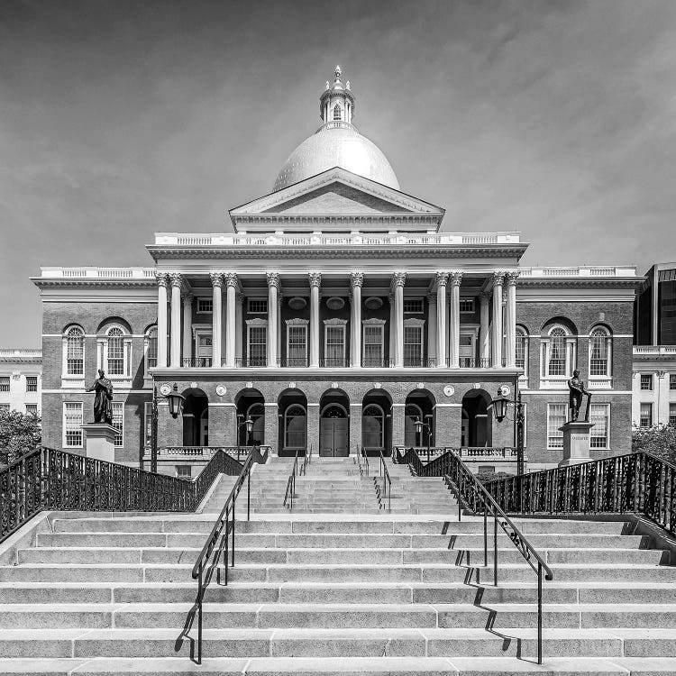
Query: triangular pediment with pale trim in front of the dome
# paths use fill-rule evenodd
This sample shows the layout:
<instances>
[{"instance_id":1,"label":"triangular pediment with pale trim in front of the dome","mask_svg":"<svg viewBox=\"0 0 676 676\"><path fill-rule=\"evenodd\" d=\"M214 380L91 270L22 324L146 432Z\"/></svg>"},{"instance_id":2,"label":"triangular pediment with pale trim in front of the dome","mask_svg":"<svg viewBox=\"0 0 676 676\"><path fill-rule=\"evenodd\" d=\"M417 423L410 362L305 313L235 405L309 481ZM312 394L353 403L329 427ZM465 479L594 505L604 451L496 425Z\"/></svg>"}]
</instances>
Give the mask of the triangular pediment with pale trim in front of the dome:
<instances>
[{"instance_id":1,"label":"triangular pediment with pale trim in front of the dome","mask_svg":"<svg viewBox=\"0 0 676 676\"><path fill-rule=\"evenodd\" d=\"M248 220L248 216L276 214L284 217L286 221L289 218L293 219L294 215L299 218L425 215L438 216L441 222L443 209L369 178L335 167L293 186L254 199L230 212L235 229L238 221Z\"/></svg>"}]
</instances>

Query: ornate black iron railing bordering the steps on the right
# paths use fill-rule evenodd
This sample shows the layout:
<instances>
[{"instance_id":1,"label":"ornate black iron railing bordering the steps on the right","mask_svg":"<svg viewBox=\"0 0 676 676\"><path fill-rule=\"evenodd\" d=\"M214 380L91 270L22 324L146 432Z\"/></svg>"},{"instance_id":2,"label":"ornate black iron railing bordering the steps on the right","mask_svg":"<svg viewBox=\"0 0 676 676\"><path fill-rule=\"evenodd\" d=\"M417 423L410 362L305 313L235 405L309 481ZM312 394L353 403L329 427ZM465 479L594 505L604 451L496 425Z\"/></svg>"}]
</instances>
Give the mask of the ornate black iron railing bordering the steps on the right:
<instances>
[{"instance_id":1,"label":"ornate black iron railing bordering the steps on the right","mask_svg":"<svg viewBox=\"0 0 676 676\"><path fill-rule=\"evenodd\" d=\"M486 489L506 512L640 514L676 534L676 465L647 452L493 480Z\"/></svg>"}]
</instances>

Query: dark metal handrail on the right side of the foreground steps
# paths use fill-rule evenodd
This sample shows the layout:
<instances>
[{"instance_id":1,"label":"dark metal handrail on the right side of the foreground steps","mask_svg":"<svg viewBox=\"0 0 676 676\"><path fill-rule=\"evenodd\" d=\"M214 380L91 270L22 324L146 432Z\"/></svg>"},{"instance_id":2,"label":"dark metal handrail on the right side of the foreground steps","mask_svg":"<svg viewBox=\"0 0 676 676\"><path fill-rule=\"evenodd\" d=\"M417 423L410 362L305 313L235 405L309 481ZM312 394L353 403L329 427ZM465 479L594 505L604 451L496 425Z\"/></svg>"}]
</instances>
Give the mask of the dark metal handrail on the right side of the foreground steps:
<instances>
[{"instance_id":1,"label":"dark metal handrail on the right side of the foreground steps","mask_svg":"<svg viewBox=\"0 0 676 676\"><path fill-rule=\"evenodd\" d=\"M543 663L543 572L544 579L553 580L552 569L544 562L543 557L528 542L525 535L514 525L512 520L498 505L474 476L470 468L455 452L448 456L448 473L444 480L451 485L458 495L458 521L462 518L462 502L475 514L483 511L483 547L484 566L489 565L489 531L488 516L493 517L493 584L498 586L498 524L512 541L516 550L525 558L525 562L537 573L537 663ZM481 508L483 507L483 508Z\"/></svg>"}]
</instances>

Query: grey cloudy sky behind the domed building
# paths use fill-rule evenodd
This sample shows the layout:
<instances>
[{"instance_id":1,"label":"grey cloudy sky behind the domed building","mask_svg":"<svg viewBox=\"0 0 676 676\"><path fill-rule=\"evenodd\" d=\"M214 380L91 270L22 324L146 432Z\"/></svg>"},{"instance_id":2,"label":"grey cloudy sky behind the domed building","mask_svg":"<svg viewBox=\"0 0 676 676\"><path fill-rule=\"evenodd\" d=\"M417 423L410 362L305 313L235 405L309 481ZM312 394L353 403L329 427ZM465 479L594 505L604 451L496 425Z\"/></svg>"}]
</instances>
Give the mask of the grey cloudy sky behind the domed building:
<instances>
[{"instance_id":1,"label":"grey cloudy sky behind the domed building","mask_svg":"<svg viewBox=\"0 0 676 676\"><path fill-rule=\"evenodd\" d=\"M230 231L338 63L443 230L521 231L525 265L676 260L674 0L2 0L0 347L40 347L41 265Z\"/></svg>"}]
</instances>

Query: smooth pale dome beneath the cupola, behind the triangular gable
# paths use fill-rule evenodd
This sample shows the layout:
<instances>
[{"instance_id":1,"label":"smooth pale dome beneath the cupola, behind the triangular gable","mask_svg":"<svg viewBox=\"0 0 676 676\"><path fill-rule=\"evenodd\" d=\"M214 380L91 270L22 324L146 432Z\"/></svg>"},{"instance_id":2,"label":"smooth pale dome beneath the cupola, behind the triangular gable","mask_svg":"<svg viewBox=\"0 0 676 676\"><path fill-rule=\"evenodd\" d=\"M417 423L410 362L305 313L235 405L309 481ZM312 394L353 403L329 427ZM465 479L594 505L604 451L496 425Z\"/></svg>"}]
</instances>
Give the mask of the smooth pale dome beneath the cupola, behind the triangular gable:
<instances>
[{"instance_id":1,"label":"smooth pale dome beneath the cupola, behind the triangular gable","mask_svg":"<svg viewBox=\"0 0 676 676\"><path fill-rule=\"evenodd\" d=\"M327 169L341 167L399 189L395 172L379 147L352 124L326 124L293 151L279 172L274 190L292 186Z\"/></svg>"}]
</instances>

